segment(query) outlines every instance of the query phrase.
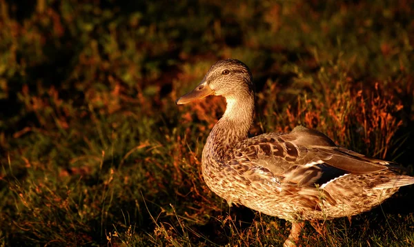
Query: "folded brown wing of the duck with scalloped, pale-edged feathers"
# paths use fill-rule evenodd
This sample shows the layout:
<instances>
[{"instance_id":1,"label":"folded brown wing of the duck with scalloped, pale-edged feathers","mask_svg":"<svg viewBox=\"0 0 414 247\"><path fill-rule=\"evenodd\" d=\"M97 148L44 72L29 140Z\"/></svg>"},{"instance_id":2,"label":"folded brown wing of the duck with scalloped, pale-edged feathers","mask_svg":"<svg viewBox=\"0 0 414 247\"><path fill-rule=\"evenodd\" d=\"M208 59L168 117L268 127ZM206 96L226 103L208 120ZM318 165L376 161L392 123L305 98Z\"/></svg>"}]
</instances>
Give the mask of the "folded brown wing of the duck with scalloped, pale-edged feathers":
<instances>
[{"instance_id":1,"label":"folded brown wing of the duck with scalloped, pale-edged feathers","mask_svg":"<svg viewBox=\"0 0 414 247\"><path fill-rule=\"evenodd\" d=\"M277 177L280 184L301 186L323 186L344 175L362 175L391 166L387 161L341 148L321 132L302 126L288 134L268 133L250 138L233 152L228 164L237 164L244 170L250 168L246 175L253 176L252 179L261 172Z\"/></svg>"}]
</instances>

